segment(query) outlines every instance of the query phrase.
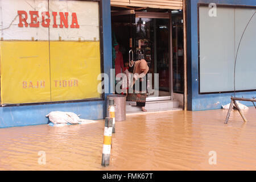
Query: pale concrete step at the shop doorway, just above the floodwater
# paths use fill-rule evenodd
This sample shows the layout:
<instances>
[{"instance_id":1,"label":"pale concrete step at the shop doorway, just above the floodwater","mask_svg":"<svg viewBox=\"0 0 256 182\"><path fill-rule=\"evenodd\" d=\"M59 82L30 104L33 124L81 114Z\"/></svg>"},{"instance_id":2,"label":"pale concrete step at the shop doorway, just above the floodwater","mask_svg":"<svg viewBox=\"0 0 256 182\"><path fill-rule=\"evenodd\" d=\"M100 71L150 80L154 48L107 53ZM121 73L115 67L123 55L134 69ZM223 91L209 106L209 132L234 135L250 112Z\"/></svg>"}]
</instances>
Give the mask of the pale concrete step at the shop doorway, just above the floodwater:
<instances>
[{"instance_id":1,"label":"pale concrete step at the shop doorway, just above the floodwater","mask_svg":"<svg viewBox=\"0 0 256 182\"><path fill-rule=\"evenodd\" d=\"M134 104L136 104L136 102L126 102L126 113L141 111L141 107L134 106ZM179 108L179 101L177 100L147 101L145 109L148 111L182 110L182 108Z\"/></svg>"}]
</instances>

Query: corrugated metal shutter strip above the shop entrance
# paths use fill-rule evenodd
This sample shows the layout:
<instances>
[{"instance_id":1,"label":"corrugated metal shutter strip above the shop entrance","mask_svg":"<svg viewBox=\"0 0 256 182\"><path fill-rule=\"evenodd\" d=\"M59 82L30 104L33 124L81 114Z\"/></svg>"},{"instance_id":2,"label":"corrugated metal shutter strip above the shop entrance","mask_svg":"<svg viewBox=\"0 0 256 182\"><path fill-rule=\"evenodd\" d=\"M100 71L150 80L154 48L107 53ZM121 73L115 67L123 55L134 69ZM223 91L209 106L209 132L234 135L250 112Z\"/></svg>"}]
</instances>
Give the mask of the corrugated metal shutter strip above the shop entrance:
<instances>
[{"instance_id":1,"label":"corrugated metal shutter strip above the shop entrance","mask_svg":"<svg viewBox=\"0 0 256 182\"><path fill-rule=\"evenodd\" d=\"M183 0L110 0L111 5L182 10Z\"/></svg>"}]
</instances>

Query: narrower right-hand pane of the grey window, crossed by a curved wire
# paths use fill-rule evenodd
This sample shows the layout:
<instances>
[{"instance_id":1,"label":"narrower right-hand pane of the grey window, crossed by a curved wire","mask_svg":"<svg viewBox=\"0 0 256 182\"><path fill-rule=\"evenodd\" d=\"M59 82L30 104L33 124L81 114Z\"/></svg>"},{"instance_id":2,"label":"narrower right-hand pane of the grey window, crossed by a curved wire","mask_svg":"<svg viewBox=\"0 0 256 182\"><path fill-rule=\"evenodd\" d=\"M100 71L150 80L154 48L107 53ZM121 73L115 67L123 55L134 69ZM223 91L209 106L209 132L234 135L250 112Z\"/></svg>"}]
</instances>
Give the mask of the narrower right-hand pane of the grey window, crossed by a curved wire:
<instances>
[{"instance_id":1,"label":"narrower right-hand pane of the grey window, crossed by a curved wire","mask_svg":"<svg viewBox=\"0 0 256 182\"><path fill-rule=\"evenodd\" d=\"M237 8L236 20L236 53L243 30L256 9ZM251 19L243 35L236 65L236 90L256 89L256 15Z\"/></svg>"}]
</instances>

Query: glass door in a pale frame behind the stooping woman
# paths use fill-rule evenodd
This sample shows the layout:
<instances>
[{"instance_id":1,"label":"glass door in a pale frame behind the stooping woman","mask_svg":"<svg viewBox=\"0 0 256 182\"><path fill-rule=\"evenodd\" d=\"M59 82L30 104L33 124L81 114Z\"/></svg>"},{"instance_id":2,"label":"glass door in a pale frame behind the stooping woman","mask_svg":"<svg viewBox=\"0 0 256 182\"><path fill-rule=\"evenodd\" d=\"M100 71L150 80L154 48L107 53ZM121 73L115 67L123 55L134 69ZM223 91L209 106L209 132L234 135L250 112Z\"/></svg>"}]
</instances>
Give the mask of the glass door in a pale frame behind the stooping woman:
<instances>
[{"instance_id":1,"label":"glass door in a pale frame behind the stooping woman","mask_svg":"<svg viewBox=\"0 0 256 182\"><path fill-rule=\"evenodd\" d=\"M152 73L152 89L147 100L170 99L170 24L166 18L135 18L136 58L142 57ZM158 74L158 86L154 76ZM156 90L157 89L157 90ZM157 94L156 94L157 93ZM154 97L154 99L153 99ZM160 98L161 97L161 98Z\"/></svg>"}]
</instances>

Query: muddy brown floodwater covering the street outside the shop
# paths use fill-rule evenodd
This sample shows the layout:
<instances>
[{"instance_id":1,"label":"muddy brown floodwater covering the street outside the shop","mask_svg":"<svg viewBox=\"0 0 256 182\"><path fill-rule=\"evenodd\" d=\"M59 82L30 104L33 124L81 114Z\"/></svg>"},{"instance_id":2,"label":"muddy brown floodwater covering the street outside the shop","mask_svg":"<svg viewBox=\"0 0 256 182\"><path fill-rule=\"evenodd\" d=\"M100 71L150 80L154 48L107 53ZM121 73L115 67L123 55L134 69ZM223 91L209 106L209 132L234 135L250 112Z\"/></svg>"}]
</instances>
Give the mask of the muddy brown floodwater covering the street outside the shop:
<instances>
[{"instance_id":1,"label":"muddy brown floodwater covering the street outside the shop","mask_svg":"<svg viewBox=\"0 0 256 182\"><path fill-rule=\"evenodd\" d=\"M162 111L116 122L110 166L101 166L104 121L0 129L0 170L255 170L256 110ZM39 151L46 164L39 164ZM209 152L217 164L209 164Z\"/></svg>"}]
</instances>

